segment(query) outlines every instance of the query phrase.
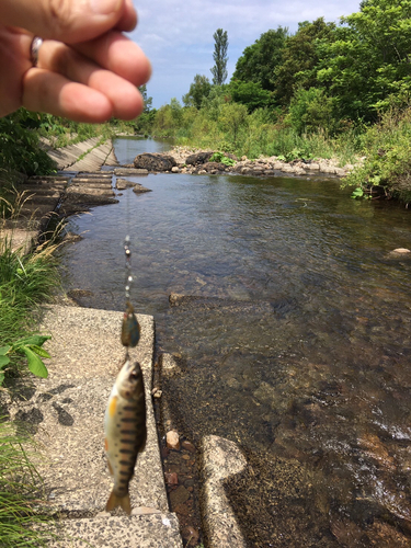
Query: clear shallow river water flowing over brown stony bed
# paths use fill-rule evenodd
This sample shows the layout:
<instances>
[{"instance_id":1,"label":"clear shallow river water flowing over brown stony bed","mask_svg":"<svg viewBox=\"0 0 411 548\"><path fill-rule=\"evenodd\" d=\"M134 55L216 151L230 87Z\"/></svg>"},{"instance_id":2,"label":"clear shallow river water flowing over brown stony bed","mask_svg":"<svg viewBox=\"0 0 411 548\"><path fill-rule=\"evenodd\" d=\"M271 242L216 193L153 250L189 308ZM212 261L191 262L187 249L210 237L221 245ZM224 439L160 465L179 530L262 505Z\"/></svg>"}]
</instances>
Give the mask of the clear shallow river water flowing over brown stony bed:
<instances>
[{"instance_id":1,"label":"clear shallow river water flowing over brown stony bed","mask_svg":"<svg viewBox=\"0 0 411 548\"><path fill-rule=\"evenodd\" d=\"M147 146L169 148L118 139L117 157L132 162ZM132 299L155 316L158 350L181 356L163 389L183 433L227 437L250 463L283 459L283 471L298 463L304 495L284 527L299 540L287 546L409 546L411 260L390 252L411 247L410 213L350 199L335 180L135 181L152 192L70 220L84 239L65 251L67 287L91 292L87 306L123 309L128 232ZM170 307L171 293L202 299ZM266 535L250 546L283 546Z\"/></svg>"}]
</instances>

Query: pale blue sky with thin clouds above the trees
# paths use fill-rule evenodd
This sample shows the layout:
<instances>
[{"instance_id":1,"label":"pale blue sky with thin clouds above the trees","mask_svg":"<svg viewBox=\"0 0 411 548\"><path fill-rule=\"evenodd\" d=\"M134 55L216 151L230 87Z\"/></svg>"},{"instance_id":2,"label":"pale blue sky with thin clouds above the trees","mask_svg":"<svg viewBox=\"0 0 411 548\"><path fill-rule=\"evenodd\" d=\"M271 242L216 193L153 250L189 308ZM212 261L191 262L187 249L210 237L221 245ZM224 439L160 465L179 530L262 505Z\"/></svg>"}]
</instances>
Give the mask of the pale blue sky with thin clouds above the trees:
<instances>
[{"instance_id":1,"label":"pale blue sky with thin clouds above the trees","mask_svg":"<svg viewBox=\"0 0 411 548\"><path fill-rule=\"evenodd\" d=\"M244 48L278 26L295 33L298 23L359 11L359 0L134 0L138 26L128 36L149 57L152 76L147 94L159 109L189 92L195 75L213 81L214 38L217 28L228 35L228 79Z\"/></svg>"}]
</instances>

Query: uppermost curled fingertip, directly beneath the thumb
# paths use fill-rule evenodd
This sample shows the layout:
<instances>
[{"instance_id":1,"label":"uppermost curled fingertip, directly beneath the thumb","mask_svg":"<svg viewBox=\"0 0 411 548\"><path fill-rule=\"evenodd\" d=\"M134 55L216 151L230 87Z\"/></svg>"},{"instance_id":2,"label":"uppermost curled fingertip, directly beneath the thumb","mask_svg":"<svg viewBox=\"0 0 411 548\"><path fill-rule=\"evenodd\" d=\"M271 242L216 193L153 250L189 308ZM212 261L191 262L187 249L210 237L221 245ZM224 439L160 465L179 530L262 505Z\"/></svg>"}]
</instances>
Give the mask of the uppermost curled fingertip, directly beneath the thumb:
<instances>
[{"instance_id":1,"label":"uppermost curled fingertip, directly beneath the thumb","mask_svg":"<svg viewBox=\"0 0 411 548\"><path fill-rule=\"evenodd\" d=\"M121 33L110 32L85 44L76 44L75 49L134 85L142 85L151 76L151 65L142 49Z\"/></svg>"}]
</instances>

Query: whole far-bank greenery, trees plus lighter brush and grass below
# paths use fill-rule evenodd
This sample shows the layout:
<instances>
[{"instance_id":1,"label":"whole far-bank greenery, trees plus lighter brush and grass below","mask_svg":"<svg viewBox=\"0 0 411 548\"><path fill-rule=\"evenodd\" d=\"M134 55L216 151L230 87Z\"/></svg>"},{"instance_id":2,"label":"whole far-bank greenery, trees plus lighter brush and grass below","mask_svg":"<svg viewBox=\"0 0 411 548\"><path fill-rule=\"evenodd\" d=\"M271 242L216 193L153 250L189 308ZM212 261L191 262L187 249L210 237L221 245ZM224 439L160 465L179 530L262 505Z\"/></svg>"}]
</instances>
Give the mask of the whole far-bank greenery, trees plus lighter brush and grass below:
<instances>
[{"instance_id":1,"label":"whole far-bank greenery, trees plus lighter brush and grass below","mask_svg":"<svg viewBox=\"0 0 411 548\"><path fill-rule=\"evenodd\" d=\"M409 139L403 142L411 117L411 0L363 0L339 23L319 18L294 34L267 30L246 47L228 83L227 33L219 28L214 39L213 81L196 75L182 103L174 98L149 109L137 130L249 158L336 156L344 163L366 155L368 172L352 184L411 173ZM393 127L401 127L400 137L392 137Z\"/></svg>"}]
</instances>

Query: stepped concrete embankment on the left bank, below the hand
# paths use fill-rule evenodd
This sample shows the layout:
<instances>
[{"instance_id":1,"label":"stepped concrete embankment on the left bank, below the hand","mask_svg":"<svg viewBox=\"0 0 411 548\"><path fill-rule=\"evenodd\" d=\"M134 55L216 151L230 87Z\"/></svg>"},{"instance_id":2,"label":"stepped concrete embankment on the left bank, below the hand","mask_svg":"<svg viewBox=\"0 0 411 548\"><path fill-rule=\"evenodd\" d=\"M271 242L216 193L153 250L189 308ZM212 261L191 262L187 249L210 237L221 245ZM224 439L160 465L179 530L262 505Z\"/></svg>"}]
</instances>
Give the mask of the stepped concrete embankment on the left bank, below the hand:
<instances>
[{"instance_id":1,"label":"stepped concrete embankment on the left bank, below the hand","mask_svg":"<svg viewBox=\"0 0 411 548\"><path fill-rule=\"evenodd\" d=\"M64 149L48 149L48 155L56 161L57 174L16 176L18 214L0 227L0 236L12 238L14 248L30 247L50 221L117 203L113 175L124 174L124 170L118 168L111 140L100 144L93 138ZM145 174L145 170L126 170L127 176ZM141 185L132 184L141 190Z\"/></svg>"}]
</instances>

